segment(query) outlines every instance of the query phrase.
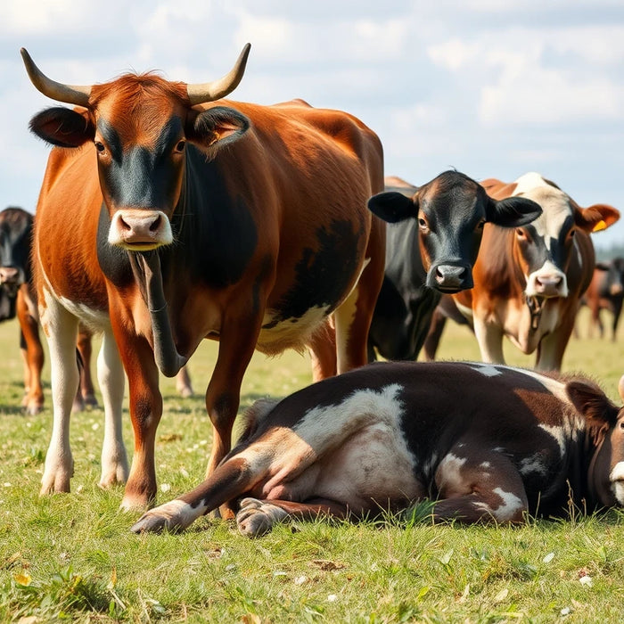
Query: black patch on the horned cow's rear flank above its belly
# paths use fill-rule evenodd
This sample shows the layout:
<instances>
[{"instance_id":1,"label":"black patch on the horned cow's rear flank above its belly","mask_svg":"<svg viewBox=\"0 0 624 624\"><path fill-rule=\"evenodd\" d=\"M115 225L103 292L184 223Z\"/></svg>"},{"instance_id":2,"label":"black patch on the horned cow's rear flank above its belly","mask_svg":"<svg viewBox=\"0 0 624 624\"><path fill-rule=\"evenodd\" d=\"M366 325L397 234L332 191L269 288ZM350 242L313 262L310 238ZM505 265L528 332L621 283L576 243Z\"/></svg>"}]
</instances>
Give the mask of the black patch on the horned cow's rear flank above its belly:
<instances>
[{"instance_id":1,"label":"black patch on the horned cow's rear flank above its belly","mask_svg":"<svg viewBox=\"0 0 624 624\"><path fill-rule=\"evenodd\" d=\"M279 301L277 314L263 329L272 329L287 319L294 322L310 308L328 308L327 314L331 313L357 273L354 250L363 235L364 227L354 230L349 220L334 219L328 227L319 227L318 248L303 250L295 267L295 285Z\"/></svg>"}]
</instances>

